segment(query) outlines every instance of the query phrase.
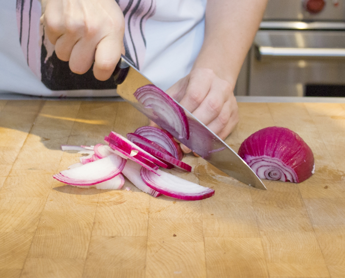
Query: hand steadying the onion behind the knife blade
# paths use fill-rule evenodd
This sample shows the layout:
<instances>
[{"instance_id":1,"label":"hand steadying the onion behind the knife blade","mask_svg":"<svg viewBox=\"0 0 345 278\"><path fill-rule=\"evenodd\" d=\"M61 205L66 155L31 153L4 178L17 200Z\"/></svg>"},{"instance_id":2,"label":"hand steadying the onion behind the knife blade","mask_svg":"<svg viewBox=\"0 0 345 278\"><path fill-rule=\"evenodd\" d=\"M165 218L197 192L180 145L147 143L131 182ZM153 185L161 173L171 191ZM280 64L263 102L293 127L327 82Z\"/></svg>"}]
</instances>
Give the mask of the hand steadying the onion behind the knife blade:
<instances>
[{"instance_id":1,"label":"hand steadying the onion behind the knife blade","mask_svg":"<svg viewBox=\"0 0 345 278\"><path fill-rule=\"evenodd\" d=\"M196 68L170 87L167 93L221 139L225 139L238 122L233 88L213 70ZM186 153L190 152L184 145L181 148Z\"/></svg>"}]
</instances>

